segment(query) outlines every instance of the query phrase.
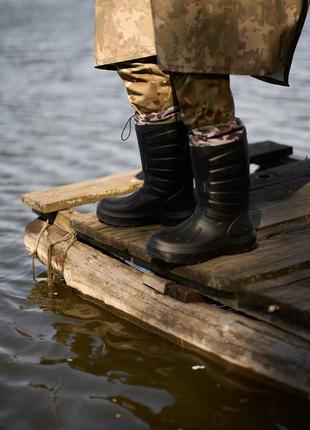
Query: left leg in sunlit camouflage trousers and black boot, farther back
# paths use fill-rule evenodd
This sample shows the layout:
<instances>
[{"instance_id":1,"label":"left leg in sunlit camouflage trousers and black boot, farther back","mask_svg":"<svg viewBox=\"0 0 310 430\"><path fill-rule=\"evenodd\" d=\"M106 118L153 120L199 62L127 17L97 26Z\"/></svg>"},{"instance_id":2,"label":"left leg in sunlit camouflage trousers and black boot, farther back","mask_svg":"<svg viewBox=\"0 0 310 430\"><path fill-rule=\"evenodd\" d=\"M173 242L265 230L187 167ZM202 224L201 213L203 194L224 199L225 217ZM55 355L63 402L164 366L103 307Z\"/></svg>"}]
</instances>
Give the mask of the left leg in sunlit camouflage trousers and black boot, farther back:
<instances>
[{"instance_id":1,"label":"left leg in sunlit camouflage trousers and black boot, farther back","mask_svg":"<svg viewBox=\"0 0 310 430\"><path fill-rule=\"evenodd\" d=\"M115 226L178 224L193 213L195 199L188 132L170 77L155 63L122 64L118 73L135 111L144 184L130 196L102 199L98 219Z\"/></svg>"}]
</instances>

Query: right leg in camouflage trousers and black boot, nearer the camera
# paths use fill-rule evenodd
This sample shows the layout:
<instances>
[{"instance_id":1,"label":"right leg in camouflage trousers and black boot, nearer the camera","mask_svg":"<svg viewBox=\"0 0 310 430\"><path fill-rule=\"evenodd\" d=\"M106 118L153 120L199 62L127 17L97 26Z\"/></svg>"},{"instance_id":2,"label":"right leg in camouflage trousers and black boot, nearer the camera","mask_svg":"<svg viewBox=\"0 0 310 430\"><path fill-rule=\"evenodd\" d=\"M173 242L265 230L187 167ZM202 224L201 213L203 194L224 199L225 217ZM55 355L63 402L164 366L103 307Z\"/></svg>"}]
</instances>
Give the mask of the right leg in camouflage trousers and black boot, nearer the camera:
<instances>
[{"instance_id":1,"label":"right leg in camouflage trousers and black boot, nearer the camera","mask_svg":"<svg viewBox=\"0 0 310 430\"><path fill-rule=\"evenodd\" d=\"M166 262L194 264L256 247L249 216L246 130L235 118L229 77L174 75L197 195L195 213L180 225L153 235L148 253Z\"/></svg>"}]
</instances>

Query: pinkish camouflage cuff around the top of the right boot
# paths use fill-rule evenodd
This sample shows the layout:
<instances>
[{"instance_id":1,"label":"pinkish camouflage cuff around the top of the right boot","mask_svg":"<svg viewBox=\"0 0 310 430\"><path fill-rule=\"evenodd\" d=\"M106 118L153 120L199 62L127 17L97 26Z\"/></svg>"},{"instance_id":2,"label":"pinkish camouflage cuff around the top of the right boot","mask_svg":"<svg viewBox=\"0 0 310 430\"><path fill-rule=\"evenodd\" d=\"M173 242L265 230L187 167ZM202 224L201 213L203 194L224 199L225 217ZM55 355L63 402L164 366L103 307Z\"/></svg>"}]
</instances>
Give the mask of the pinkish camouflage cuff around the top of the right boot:
<instances>
[{"instance_id":1,"label":"pinkish camouflage cuff around the top of the right boot","mask_svg":"<svg viewBox=\"0 0 310 430\"><path fill-rule=\"evenodd\" d=\"M246 128L240 118L209 130L191 129L189 141L191 146L228 145L240 140L246 133Z\"/></svg>"}]
</instances>

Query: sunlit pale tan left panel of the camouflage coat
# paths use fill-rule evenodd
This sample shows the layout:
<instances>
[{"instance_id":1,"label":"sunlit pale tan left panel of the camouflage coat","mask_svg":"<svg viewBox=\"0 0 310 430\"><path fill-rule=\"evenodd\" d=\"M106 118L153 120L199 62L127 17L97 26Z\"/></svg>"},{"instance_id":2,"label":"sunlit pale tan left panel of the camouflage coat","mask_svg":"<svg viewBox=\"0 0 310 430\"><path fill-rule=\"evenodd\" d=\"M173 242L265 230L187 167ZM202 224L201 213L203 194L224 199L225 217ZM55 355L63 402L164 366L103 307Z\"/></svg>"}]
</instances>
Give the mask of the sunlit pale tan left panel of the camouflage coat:
<instances>
[{"instance_id":1,"label":"sunlit pale tan left panel of the camouflage coat","mask_svg":"<svg viewBox=\"0 0 310 430\"><path fill-rule=\"evenodd\" d=\"M96 67L154 55L150 0L96 0Z\"/></svg>"}]
</instances>

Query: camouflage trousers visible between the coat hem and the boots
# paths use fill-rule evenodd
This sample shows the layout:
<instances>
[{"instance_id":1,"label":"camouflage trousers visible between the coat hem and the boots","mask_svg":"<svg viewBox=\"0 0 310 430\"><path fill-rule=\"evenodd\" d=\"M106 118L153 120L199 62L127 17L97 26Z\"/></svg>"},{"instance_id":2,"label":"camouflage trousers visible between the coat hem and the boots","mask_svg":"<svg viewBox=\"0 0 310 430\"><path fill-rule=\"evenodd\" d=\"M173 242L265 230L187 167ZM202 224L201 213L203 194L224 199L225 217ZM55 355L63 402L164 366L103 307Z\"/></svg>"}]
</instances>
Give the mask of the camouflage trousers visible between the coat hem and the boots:
<instances>
[{"instance_id":1,"label":"camouflage trousers visible between the coat hem and the boots","mask_svg":"<svg viewBox=\"0 0 310 430\"><path fill-rule=\"evenodd\" d=\"M138 124L180 119L190 128L192 145L230 143L244 132L235 118L229 76L174 73L155 63L128 62L118 67Z\"/></svg>"}]
</instances>

